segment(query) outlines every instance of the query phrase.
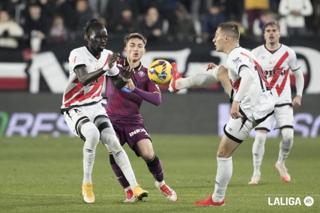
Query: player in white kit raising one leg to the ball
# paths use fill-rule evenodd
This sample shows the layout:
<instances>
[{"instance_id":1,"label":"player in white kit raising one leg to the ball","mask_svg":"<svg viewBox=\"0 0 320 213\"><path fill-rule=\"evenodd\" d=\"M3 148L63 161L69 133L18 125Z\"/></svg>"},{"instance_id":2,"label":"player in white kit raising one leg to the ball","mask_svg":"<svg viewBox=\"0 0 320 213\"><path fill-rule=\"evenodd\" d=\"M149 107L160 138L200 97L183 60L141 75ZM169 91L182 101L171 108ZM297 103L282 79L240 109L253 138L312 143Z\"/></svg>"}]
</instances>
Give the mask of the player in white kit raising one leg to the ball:
<instances>
[{"instance_id":1,"label":"player in white kit raising one leg to the ball","mask_svg":"<svg viewBox=\"0 0 320 213\"><path fill-rule=\"evenodd\" d=\"M232 153L252 128L273 114L274 99L267 88L268 82L256 58L248 50L239 46L239 37L238 25L227 22L218 26L212 41L218 52L228 55L227 67L233 87L231 92L233 100L230 110L231 118L224 126L224 135L217 152L218 168L214 192L208 198L196 201L194 203L196 206L224 205L225 191L232 175ZM214 66L209 65L208 69ZM215 78L214 81L218 81L216 73L202 75L202 81L205 82L209 78ZM178 79L177 76L174 74L171 87L176 86L173 81Z\"/></svg>"}]
</instances>

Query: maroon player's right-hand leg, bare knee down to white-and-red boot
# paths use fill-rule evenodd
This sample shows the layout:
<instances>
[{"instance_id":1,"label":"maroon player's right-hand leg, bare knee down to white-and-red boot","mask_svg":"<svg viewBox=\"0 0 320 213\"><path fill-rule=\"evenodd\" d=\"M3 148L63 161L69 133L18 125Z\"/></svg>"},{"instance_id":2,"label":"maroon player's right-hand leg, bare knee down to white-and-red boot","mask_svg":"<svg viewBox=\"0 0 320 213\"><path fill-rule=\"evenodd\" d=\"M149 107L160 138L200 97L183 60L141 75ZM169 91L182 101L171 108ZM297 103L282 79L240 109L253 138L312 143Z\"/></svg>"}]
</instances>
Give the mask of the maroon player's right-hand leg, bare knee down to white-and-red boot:
<instances>
[{"instance_id":1,"label":"maroon player's right-hand leg, bare knee down to white-and-red boot","mask_svg":"<svg viewBox=\"0 0 320 213\"><path fill-rule=\"evenodd\" d=\"M149 138L139 140L136 144L136 149L156 180L156 187L169 201L177 201L178 196L176 195L176 192L164 182L161 161L153 152L151 140Z\"/></svg>"}]
</instances>

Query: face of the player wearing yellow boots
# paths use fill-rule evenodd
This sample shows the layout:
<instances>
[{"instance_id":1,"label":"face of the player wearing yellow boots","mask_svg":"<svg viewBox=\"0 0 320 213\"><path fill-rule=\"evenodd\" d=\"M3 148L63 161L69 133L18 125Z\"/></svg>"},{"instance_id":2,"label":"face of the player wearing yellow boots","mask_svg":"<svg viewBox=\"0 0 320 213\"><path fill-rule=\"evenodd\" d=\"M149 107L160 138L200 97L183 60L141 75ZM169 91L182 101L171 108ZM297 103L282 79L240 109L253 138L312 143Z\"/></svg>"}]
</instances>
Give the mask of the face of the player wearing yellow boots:
<instances>
[{"instance_id":1,"label":"face of the player wearing yellow boots","mask_svg":"<svg viewBox=\"0 0 320 213\"><path fill-rule=\"evenodd\" d=\"M108 41L108 34L106 28L99 28L91 30L89 37L89 48L102 52Z\"/></svg>"}]
</instances>

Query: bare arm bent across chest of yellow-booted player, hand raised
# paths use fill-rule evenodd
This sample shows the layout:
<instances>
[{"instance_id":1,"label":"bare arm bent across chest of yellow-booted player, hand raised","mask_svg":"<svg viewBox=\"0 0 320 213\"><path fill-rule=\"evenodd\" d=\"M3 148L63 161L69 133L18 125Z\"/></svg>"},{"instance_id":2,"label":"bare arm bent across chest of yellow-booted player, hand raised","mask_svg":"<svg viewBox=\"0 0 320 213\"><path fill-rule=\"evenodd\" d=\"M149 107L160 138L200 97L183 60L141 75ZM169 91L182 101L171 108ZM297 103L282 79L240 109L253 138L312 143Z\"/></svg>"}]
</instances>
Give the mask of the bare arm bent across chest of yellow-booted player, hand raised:
<instances>
[{"instance_id":1,"label":"bare arm bent across chest of yellow-booted player, hand raised","mask_svg":"<svg viewBox=\"0 0 320 213\"><path fill-rule=\"evenodd\" d=\"M95 72L89 73L87 67L85 65L77 67L74 71L80 81L80 83L84 86L94 82L98 79L101 75L105 74L110 67L113 67L114 62L117 61L120 57L120 53L113 53L108 61L108 66L104 66L98 69Z\"/></svg>"}]
</instances>

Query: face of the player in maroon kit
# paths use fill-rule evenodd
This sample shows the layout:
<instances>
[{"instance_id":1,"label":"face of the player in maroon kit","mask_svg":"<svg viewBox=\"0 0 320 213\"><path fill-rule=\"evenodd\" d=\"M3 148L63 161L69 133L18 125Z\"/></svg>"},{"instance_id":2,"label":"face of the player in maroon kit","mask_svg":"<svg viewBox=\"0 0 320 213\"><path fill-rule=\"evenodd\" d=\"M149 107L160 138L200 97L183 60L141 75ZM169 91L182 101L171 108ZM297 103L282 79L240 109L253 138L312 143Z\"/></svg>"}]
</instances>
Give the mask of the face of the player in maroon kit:
<instances>
[{"instance_id":1,"label":"face of the player in maroon kit","mask_svg":"<svg viewBox=\"0 0 320 213\"><path fill-rule=\"evenodd\" d=\"M129 60L139 61L145 53L144 42L139 38L130 39L125 52Z\"/></svg>"}]
</instances>

